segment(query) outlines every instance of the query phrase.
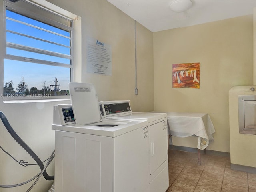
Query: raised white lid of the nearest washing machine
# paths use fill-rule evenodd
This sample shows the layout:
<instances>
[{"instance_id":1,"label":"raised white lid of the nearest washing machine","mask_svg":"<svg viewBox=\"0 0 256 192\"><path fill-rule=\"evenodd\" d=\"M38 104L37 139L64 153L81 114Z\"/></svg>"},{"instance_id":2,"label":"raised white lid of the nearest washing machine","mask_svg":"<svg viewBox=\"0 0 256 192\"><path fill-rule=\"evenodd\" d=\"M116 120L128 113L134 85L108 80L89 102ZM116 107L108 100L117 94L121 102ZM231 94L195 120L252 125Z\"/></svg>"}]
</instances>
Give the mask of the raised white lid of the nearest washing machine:
<instances>
[{"instance_id":1,"label":"raised white lid of the nearest washing machine","mask_svg":"<svg viewBox=\"0 0 256 192\"><path fill-rule=\"evenodd\" d=\"M69 83L68 86L76 124L86 125L102 121L94 85Z\"/></svg>"}]
</instances>

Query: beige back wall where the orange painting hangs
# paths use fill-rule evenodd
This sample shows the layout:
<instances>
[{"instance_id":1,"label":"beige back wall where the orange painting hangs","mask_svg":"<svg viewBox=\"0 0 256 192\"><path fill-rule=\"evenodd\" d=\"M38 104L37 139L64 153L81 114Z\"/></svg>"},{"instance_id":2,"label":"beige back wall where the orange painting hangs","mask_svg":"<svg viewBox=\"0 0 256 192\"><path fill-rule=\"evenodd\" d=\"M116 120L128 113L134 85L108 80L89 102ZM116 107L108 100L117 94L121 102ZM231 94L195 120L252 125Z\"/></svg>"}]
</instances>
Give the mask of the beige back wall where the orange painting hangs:
<instances>
[{"instance_id":1,"label":"beige back wall where the orange painting hangs","mask_svg":"<svg viewBox=\"0 0 256 192\"><path fill-rule=\"evenodd\" d=\"M228 91L252 84L252 15L154 32L154 110L204 112L216 133L209 150L230 152ZM172 88L172 64L200 62L200 89ZM196 148L197 138L173 138Z\"/></svg>"}]
</instances>

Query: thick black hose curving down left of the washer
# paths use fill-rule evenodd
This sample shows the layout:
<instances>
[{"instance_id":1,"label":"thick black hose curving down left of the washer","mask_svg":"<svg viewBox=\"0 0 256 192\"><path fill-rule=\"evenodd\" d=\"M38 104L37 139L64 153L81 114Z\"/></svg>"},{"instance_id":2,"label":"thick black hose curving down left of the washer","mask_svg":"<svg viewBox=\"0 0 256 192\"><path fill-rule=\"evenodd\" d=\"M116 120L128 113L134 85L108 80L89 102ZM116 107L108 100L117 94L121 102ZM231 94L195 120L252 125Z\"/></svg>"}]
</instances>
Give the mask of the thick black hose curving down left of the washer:
<instances>
[{"instance_id":1,"label":"thick black hose curving down left of the washer","mask_svg":"<svg viewBox=\"0 0 256 192\"><path fill-rule=\"evenodd\" d=\"M2 111L0 111L0 118L5 126L5 128L8 130L8 132L10 133L10 135L14 138L14 140L16 140L16 142L18 144L20 144L20 146L22 146L22 148L24 148L24 150L26 150L26 152L28 152L28 154L30 154L30 156L36 161L36 163L38 164L38 166L40 167L41 170L44 169L44 164L42 163L42 161L40 160L40 158L34 153L34 151L32 151L32 149L16 134L16 132L13 130L12 126L10 125L10 123L8 122L6 116L4 115L4 113ZM49 176L46 172L46 170L44 170L43 176L46 180L54 180L54 175L53 176Z\"/></svg>"}]
</instances>

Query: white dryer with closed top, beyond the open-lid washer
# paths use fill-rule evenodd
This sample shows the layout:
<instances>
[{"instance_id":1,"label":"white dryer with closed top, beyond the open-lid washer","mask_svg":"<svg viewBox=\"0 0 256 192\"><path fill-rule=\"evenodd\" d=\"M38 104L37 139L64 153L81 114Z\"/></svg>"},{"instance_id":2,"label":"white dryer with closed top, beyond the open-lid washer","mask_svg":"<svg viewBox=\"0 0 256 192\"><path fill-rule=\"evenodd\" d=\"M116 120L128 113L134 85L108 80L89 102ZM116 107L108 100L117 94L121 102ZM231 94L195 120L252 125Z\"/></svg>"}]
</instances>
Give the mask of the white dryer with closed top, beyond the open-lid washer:
<instances>
[{"instance_id":1,"label":"white dryer with closed top, beyond the open-lid washer","mask_svg":"<svg viewBox=\"0 0 256 192\"><path fill-rule=\"evenodd\" d=\"M166 113L132 112L129 100L102 102L106 119L147 120L150 159L150 192L165 192L169 187L168 129Z\"/></svg>"}]
</instances>

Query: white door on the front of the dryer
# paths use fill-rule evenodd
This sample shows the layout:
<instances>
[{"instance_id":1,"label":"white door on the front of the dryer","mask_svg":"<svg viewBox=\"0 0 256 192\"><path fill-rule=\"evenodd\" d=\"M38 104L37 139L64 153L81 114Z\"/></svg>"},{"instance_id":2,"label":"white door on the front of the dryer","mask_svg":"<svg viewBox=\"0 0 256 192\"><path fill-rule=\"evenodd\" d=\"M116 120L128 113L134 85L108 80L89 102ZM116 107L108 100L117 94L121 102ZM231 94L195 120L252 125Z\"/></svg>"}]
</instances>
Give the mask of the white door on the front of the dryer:
<instances>
[{"instance_id":1,"label":"white door on the front of the dryer","mask_svg":"<svg viewBox=\"0 0 256 192\"><path fill-rule=\"evenodd\" d=\"M167 160L167 128L163 121L149 126L150 174Z\"/></svg>"}]
</instances>

